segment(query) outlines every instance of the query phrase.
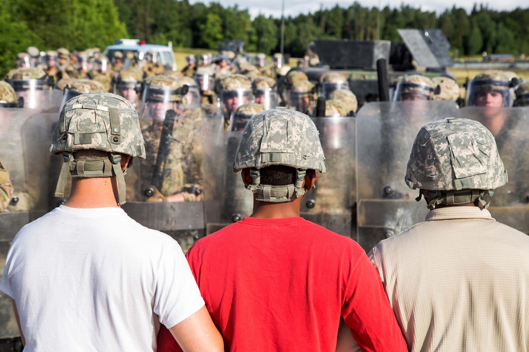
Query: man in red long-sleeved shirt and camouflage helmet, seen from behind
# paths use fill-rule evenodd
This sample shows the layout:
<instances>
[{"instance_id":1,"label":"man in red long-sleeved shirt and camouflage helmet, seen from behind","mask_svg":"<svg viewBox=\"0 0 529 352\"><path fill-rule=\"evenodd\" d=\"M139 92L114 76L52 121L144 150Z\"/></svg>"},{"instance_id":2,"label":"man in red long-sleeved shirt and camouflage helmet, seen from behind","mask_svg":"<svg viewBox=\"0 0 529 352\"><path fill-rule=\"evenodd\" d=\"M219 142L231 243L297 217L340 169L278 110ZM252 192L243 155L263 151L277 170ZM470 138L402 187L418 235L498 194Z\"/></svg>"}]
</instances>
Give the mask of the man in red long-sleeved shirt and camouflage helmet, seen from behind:
<instances>
[{"instance_id":1,"label":"man in red long-sleeved shirt and camouflage helmet, seen from behind","mask_svg":"<svg viewBox=\"0 0 529 352\"><path fill-rule=\"evenodd\" d=\"M364 351L407 350L363 249L299 216L316 170L325 172L311 119L285 108L253 115L236 152L239 170L254 193L252 215L187 252L225 350L334 351L340 318ZM178 348L165 330L158 344Z\"/></svg>"}]
</instances>

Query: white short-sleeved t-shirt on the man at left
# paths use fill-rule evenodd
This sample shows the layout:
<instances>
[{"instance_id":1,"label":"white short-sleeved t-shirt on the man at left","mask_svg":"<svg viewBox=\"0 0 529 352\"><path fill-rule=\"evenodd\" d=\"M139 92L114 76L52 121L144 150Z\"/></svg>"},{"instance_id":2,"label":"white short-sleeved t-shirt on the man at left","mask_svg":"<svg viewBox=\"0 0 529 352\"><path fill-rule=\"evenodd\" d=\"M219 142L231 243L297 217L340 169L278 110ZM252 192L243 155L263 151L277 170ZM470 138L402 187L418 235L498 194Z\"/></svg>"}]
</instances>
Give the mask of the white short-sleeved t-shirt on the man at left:
<instances>
[{"instance_id":1,"label":"white short-sleeved t-shirt on the man at left","mask_svg":"<svg viewBox=\"0 0 529 352\"><path fill-rule=\"evenodd\" d=\"M156 351L204 306L178 243L121 208L60 206L24 226L0 290L16 302L24 351Z\"/></svg>"}]
</instances>

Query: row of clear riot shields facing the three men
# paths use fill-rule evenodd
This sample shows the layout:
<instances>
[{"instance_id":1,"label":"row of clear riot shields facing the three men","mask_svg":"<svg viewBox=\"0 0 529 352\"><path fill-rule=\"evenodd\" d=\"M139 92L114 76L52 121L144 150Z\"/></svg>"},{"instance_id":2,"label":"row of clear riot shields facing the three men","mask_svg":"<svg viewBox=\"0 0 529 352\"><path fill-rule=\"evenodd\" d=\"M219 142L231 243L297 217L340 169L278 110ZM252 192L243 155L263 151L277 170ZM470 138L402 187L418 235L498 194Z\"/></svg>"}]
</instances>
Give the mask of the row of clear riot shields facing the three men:
<instances>
[{"instance_id":1,"label":"row of clear riot shields facing the three men","mask_svg":"<svg viewBox=\"0 0 529 352\"><path fill-rule=\"evenodd\" d=\"M197 181L199 189L184 184L180 190L194 192L196 201L152 201L147 196L157 155L148 155L146 160L134 158L125 176L127 202L123 209L140 224L174 237L184 251L197 238L249 216L253 210L252 192L244 188L240 173L233 173L243 132L222 132L224 121L218 109L198 109L193 114L178 115L177 123L189 118L193 124L181 131L176 128L171 137L184 148L179 155L193 153L192 164L185 159L180 164L163 164L165 167L157 170L166 182L175 170L183 168L182 162L188 162L185 166L189 169L198 168L202 174L202 180ZM357 117L314 118L327 172L317 173L316 188L306 193L301 215L357 240L366 251L379 240L423 221L428 209L424 200L415 201L418 190L405 184L406 165L419 129L445 117L475 119L495 135L509 182L495 191L488 209L501 223L529 234L529 109L459 109L451 101L369 103ZM142 118L144 128L149 128L149 118ZM61 203L53 197L53 191L62 158L48 154L57 119L56 113L0 109L4 127L0 132L0 158L14 186L12 203L0 214L2 269L16 232ZM11 300L0 295L0 339L17 335Z\"/></svg>"}]
</instances>

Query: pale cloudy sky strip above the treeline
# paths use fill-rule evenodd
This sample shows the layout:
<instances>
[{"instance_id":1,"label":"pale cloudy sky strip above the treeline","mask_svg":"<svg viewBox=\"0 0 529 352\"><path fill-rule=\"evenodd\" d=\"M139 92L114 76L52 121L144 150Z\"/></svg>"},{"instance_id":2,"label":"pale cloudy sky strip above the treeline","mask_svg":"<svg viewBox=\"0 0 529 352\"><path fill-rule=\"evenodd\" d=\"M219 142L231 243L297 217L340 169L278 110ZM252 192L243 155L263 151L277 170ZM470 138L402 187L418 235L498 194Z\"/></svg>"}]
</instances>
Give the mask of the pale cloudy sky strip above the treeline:
<instances>
[{"instance_id":1,"label":"pale cloudy sky strip above the treeline","mask_svg":"<svg viewBox=\"0 0 529 352\"><path fill-rule=\"evenodd\" d=\"M248 11L252 18L259 14L265 16L272 16L275 18L281 18L281 6L283 0L215 0L214 2L220 3L223 7L239 6L240 10L248 8ZM337 4L342 8L348 8L353 4L354 1L345 0L284 0L285 1L285 17L297 16L301 13L314 13L323 8L332 8ZM196 2L209 3L207 0L191 0L190 3ZM452 8L455 5L458 8L464 8L467 13L470 13L474 6L475 0L358 0L363 7L381 7L384 8L389 6L390 8L399 8L401 4L409 5L413 8L421 8L422 11L436 12L441 14L447 8ZM526 0L496 0L494 2L481 2L478 3L487 6L490 10L496 11L512 11L516 7L529 8Z\"/></svg>"}]
</instances>

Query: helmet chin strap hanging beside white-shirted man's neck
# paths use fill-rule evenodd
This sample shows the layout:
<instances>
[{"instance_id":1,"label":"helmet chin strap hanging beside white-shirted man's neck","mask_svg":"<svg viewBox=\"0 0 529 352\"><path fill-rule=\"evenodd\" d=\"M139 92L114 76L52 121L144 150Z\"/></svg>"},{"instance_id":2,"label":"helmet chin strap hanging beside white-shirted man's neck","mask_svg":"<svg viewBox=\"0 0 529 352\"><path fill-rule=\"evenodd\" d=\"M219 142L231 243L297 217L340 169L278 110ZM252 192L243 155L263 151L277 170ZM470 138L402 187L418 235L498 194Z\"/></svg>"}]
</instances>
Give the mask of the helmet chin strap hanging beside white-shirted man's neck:
<instances>
[{"instance_id":1,"label":"helmet chin strap hanging beside white-shirted man's neck","mask_svg":"<svg viewBox=\"0 0 529 352\"><path fill-rule=\"evenodd\" d=\"M66 181L68 180L68 174L71 174L72 178L97 178L97 177L112 177L117 178L118 185L118 203L121 206L125 203L125 178L123 175L126 172L121 170L121 155L118 153L110 153L108 158L102 160L75 160L74 155L71 152L63 152L62 158L64 163L61 166L61 172L59 174L59 180L57 181L57 187L55 189L55 197L64 197L66 188Z\"/></svg>"}]
</instances>

